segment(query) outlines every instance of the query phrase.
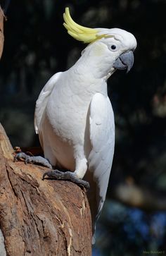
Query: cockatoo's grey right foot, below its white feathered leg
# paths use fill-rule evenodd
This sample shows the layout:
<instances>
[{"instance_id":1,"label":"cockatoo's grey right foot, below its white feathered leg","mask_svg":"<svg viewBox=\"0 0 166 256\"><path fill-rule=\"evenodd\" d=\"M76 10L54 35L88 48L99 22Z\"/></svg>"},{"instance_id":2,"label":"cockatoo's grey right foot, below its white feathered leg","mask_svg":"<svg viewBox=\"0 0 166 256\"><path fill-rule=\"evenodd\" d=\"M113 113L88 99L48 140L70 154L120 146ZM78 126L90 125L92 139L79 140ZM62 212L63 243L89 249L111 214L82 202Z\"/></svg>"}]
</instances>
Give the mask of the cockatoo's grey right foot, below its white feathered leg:
<instances>
[{"instance_id":1,"label":"cockatoo's grey right foot, below its white feathered leg","mask_svg":"<svg viewBox=\"0 0 166 256\"><path fill-rule=\"evenodd\" d=\"M84 188L86 188L87 190L89 189L89 182L84 181L80 178L77 178L76 174L72 173L71 171L65 171L65 172L58 171L58 170L47 171L43 175L43 180L46 176L48 176L49 178L57 179L57 180L72 181L77 185L83 185Z\"/></svg>"}]
</instances>

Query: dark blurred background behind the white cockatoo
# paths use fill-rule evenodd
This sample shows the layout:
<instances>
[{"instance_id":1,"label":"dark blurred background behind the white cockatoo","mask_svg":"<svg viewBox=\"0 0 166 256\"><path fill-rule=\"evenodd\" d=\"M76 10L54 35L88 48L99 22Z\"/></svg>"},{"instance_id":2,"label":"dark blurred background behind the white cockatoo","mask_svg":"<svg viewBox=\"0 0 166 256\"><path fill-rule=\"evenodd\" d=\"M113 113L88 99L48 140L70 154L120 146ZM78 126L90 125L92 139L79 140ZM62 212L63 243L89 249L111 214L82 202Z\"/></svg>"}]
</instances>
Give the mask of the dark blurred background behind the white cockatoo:
<instances>
[{"instance_id":1,"label":"dark blurred background behind the white cockatoo","mask_svg":"<svg viewBox=\"0 0 166 256\"><path fill-rule=\"evenodd\" d=\"M13 147L39 145L33 127L39 92L86 47L63 27L65 6L81 25L122 28L138 42L132 71L117 71L108 81L115 157L94 255L166 255L166 1L11 0L0 61L0 121Z\"/></svg>"}]
</instances>

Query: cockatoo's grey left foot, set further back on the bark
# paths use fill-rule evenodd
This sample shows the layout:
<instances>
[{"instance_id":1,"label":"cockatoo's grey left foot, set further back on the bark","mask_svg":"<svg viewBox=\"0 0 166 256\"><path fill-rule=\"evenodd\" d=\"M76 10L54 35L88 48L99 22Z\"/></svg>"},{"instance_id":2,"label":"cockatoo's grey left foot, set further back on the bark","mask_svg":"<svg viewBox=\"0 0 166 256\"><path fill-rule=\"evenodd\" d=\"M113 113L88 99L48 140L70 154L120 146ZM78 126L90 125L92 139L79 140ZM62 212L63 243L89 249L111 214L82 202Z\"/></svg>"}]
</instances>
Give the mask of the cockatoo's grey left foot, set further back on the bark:
<instances>
[{"instance_id":1,"label":"cockatoo's grey left foot, set further back on the bark","mask_svg":"<svg viewBox=\"0 0 166 256\"><path fill-rule=\"evenodd\" d=\"M31 156L28 156L27 154L25 154L24 152L19 152L19 153L15 154L14 161L22 160L22 159L23 159L23 161L25 161L25 164L28 164L28 163L41 164L43 166L48 167L49 169L52 169L51 164L44 157L40 157L40 156L37 156L37 157L32 156L31 157Z\"/></svg>"}]
</instances>

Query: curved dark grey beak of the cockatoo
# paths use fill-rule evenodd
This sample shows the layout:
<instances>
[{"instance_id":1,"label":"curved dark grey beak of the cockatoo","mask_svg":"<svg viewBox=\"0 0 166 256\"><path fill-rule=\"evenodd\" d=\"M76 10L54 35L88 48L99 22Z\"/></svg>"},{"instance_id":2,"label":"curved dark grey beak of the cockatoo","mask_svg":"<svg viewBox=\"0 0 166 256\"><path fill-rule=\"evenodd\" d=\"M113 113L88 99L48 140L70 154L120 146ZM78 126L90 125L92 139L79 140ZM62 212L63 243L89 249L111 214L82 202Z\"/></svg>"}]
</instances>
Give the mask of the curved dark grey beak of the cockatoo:
<instances>
[{"instance_id":1,"label":"curved dark grey beak of the cockatoo","mask_svg":"<svg viewBox=\"0 0 166 256\"><path fill-rule=\"evenodd\" d=\"M113 63L113 68L124 70L127 69L127 73L130 71L134 63L133 51L127 51L125 54L121 54L118 59Z\"/></svg>"}]
</instances>

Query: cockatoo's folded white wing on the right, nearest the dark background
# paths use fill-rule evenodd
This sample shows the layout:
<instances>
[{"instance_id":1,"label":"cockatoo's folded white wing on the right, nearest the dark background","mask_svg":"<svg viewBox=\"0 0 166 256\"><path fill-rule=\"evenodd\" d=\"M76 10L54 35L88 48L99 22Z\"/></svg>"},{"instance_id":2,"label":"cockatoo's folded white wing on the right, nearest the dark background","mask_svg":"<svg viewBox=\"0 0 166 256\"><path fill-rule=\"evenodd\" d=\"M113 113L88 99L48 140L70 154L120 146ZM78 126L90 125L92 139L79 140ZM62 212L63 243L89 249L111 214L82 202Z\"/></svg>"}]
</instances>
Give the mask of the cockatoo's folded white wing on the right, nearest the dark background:
<instances>
[{"instance_id":1,"label":"cockatoo's folded white wing on the right, nearest the dark background","mask_svg":"<svg viewBox=\"0 0 166 256\"><path fill-rule=\"evenodd\" d=\"M96 201L96 206L93 206L95 210L92 212L92 221L95 222L106 198L115 145L113 108L110 99L101 93L96 93L91 99L89 124L92 146L88 159L89 171L93 172L93 184L91 185L96 190L96 200L91 198L90 205L94 205L94 201Z\"/></svg>"}]
</instances>

